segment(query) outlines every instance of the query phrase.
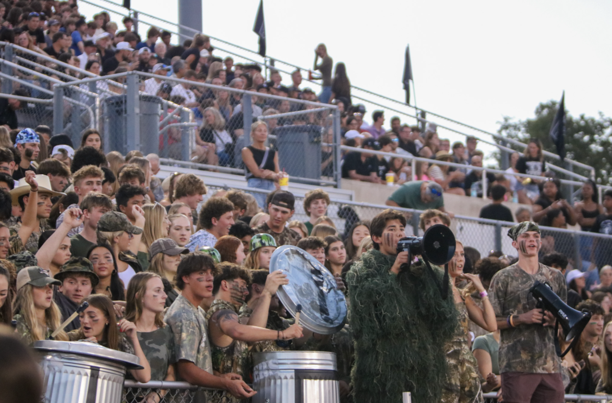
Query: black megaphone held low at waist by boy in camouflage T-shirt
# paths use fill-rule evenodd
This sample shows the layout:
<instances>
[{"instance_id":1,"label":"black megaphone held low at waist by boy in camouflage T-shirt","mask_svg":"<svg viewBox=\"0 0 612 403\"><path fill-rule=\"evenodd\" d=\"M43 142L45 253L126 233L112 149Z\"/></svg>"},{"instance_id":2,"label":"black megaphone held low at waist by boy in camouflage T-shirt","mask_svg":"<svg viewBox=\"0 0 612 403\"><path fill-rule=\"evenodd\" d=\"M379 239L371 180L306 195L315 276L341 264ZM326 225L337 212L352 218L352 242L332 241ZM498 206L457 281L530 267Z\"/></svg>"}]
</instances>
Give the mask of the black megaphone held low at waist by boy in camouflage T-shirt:
<instances>
[{"instance_id":1,"label":"black megaphone held low at waist by boy in camouflage T-shirt","mask_svg":"<svg viewBox=\"0 0 612 403\"><path fill-rule=\"evenodd\" d=\"M573 347L573 345L580 339L580 334L584 330L584 326L591 320L591 314L589 312L580 312L573 309L569 305L563 302L558 295L553 291L547 283L541 283L536 281L533 287L529 290L537 301L542 305L544 309L550 311L556 318L554 325L554 340L555 347L557 347L557 355L564 356ZM565 341L573 339L572 344L561 354L561 348L558 348L558 337L557 330L561 325L563 333L565 334Z\"/></svg>"}]
</instances>

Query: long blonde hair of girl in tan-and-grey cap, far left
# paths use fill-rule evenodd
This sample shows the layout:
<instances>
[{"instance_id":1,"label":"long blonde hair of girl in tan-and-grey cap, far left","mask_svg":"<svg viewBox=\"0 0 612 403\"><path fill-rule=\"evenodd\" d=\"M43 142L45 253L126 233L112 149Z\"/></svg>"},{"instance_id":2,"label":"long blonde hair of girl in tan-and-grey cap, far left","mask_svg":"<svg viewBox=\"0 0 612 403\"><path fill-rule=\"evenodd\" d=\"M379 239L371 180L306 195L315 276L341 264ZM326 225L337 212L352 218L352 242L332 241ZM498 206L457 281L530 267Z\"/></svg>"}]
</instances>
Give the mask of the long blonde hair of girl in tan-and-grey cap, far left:
<instances>
[{"instance_id":1,"label":"long blonde hair of girl in tan-and-grey cap, far left","mask_svg":"<svg viewBox=\"0 0 612 403\"><path fill-rule=\"evenodd\" d=\"M21 314L23 321L26 323L26 327L30 331L30 339L25 341L28 342L28 344L47 339L47 329L55 331L62 323L62 314L55 301L51 300L51 306L45 309L45 323L47 329L40 325L36 318L32 288L34 288L34 286L31 284L26 284L21 287L17 292L17 299L15 300L15 313ZM58 341L68 341L68 336L62 330L55 336L55 339Z\"/></svg>"}]
</instances>

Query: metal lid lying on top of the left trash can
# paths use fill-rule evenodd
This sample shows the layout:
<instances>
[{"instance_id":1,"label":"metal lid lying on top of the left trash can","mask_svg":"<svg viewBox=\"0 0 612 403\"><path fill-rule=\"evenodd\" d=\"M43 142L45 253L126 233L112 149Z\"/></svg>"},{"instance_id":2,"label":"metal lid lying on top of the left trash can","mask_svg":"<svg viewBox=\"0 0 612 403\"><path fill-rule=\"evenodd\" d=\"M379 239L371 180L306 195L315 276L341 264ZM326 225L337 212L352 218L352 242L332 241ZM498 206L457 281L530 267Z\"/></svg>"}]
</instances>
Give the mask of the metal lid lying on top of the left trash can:
<instances>
[{"instance_id":1,"label":"metal lid lying on top of the left trash can","mask_svg":"<svg viewBox=\"0 0 612 403\"><path fill-rule=\"evenodd\" d=\"M39 340L34 342L34 350L42 353L56 352L84 355L99 360L114 361L125 365L128 369L143 369L143 366L140 365L140 358L137 356L90 342Z\"/></svg>"}]
</instances>

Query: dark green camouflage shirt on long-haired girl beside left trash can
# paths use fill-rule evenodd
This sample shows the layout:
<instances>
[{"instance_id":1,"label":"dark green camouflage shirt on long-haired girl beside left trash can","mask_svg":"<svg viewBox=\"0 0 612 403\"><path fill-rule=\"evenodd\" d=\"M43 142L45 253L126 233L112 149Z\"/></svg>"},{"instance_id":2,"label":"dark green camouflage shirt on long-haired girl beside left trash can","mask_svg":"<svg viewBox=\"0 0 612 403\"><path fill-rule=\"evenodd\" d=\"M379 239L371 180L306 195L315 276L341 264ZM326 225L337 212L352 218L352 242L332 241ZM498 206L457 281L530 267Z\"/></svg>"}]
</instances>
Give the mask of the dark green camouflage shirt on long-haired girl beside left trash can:
<instances>
[{"instance_id":1,"label":"dark green camouflage shirt on long-haired girl beside left trash can","mask_svg":"<svg viewBox=\"0 0 612 403\"><path fill-rule=\"evenodd\" d=\"M138 332L138 342L151 366L151 380L164 380L168 367L174 364L174 335L170 326L154 331Z\"/></svg>"}]
</instances>

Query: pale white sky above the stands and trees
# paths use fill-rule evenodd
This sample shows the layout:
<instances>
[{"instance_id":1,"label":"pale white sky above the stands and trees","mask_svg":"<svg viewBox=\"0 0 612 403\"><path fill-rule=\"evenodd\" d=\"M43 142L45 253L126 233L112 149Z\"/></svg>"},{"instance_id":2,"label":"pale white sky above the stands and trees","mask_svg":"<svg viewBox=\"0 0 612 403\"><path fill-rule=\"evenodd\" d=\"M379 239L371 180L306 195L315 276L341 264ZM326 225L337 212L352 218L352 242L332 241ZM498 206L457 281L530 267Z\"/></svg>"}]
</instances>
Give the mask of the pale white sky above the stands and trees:
<instances>
[{"instance_id":1,"label":"pale white sky above the stands and trees","mask_svg":"<svg viewBox=\"0 0 612 403\"><path fill-rule=\"evenodd\" d=\"M91 17L93 7L80 4ZM257 50L258 5L206 1L203 32ZM176 1L132 0L132 7L177 21ZM573 116L612 115L608 0L264 0L264 13L268 55L312 68L313 50L324 42L353 85L397 100L405 99L409 44L417 104L484 130L495 131L504 115L532 117L539 102L559 100L563 90Z\"/></svg>"}]
</instances>

